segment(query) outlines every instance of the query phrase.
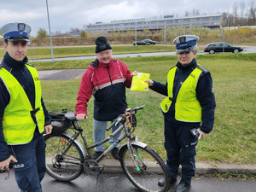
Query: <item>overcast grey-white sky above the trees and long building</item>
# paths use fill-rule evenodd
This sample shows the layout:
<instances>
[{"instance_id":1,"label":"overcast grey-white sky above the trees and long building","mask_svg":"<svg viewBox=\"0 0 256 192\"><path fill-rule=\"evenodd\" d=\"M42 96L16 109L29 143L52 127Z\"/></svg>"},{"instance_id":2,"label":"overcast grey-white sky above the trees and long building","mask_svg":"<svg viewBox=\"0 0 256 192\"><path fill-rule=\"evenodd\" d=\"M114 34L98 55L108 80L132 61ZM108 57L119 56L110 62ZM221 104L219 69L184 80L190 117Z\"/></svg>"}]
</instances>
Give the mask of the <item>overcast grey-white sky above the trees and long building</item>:
<instances>
[{"instance_id":1,"label":"overcast grey-white sky above the trees and long building","mask_svg":"<svg viewBox=\"0 0 256 192\"><path fill-rule=\"evenodd\" d=\"M231 13L234 3L253 0L48 0L51 32L69 32L71 28L97 21L149 18L160 15L183 16L198 9L200 14ZM254 3L256 1L254 0ZM22 21L32 26L32 36L39 28L49 32L46 0L1 0L0 26Z\"/></svg>"}]
</instances>

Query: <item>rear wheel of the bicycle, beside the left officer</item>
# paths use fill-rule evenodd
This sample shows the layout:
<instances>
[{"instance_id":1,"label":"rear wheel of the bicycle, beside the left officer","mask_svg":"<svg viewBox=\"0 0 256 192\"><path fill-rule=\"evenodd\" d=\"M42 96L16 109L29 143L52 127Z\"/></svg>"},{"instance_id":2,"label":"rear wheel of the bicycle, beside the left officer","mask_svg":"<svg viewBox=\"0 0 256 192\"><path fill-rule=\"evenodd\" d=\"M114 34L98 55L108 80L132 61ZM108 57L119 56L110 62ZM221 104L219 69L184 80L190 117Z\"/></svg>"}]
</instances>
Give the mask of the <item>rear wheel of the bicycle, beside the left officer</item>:
<instances>
[{"instance_id":1,"label":"rear wheel of the bicycle, beside the left officer","mask_svg":"<svg viewBox=\"0 0 256 192\"><path fill-rule=\"evenodd\" d=\"M84 172L84 155L76 143L72 143L71 148L68 149L61 160L57 160L60 159L58 155L62 154L67 148L69 139L70 137L64 134L44 136L46 172L58 181L71 181ZM70 162L65 162L66 160Z\"/></svg>"}]
</instances>

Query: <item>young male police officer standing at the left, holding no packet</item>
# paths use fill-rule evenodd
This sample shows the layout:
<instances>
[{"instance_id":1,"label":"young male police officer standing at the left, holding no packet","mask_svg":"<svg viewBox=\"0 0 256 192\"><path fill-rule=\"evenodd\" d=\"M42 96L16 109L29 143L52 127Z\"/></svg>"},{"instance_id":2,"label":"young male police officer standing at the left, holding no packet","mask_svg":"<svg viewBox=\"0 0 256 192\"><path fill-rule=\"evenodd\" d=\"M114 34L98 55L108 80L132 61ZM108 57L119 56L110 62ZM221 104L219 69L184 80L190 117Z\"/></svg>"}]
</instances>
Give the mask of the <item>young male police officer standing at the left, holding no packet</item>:
<instances>
[{"instance_id":1,"label":"young male police officer standing at the left, holding no packet","mask_svg":"<svg viewBox=\"0 0 256 192\"><path fill-rule=\"evenodd\" d=\"M20 191L41 192L45 173L43 132L50 133L37 70L26 62L31 26L9 23L0 28L6 51L0 65L0 169L13 162Z\"/></svg>"}]
</instances>

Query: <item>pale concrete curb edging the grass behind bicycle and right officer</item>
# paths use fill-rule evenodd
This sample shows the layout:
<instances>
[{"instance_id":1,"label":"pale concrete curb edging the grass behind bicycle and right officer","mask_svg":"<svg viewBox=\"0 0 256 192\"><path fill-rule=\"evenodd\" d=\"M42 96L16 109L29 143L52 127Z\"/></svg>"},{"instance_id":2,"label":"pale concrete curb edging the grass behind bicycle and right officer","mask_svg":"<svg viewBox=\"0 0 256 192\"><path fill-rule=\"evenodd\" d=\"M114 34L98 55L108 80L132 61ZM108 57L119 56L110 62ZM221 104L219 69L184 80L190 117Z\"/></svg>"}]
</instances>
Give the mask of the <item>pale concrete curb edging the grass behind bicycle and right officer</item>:
<instances>
[{"instance_id":1,"label":"pale concrete curb edging the grass behind bicycle and right officer","mask_svg":"<svg viewBox=\"0 0 256 192\"><path fill-rule=\"evenodd\" d=\"M119 160L113 159L103 159L99 162L99 165L105 165L103 172L123 172L122 167L120 166ZM246 165L246 164L227 164L227 163L217 163L212 166L212 164L198 161L195 162L196 170L195 173L198 175L213 174L213 173L236 173L236 174L256 174L256 164ZM181 168L179 168L181 172Z\"/></svg>"}]
</instances>

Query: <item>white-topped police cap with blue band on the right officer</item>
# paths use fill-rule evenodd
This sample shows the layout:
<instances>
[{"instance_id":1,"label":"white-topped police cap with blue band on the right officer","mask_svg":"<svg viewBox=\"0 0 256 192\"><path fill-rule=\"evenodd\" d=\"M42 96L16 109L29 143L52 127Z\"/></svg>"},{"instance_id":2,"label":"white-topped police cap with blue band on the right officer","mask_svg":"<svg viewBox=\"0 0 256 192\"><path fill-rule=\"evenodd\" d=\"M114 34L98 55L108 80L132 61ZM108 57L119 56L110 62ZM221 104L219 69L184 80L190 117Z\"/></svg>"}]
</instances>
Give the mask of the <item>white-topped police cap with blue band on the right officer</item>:
<instances>
[{"instance_id":1,"label":"white-topped police cap with blue band on the right officer","mask_svg":"<svg viewBox=\"0 0 256 192\"><path fill-rule=\"evenodd\" d=\"M176 44L177 54L181 54L193 50L197 40L199 40L199 37L196 35L183 35L174 38L172 43Z\"/></svg>"}]
</instances>

